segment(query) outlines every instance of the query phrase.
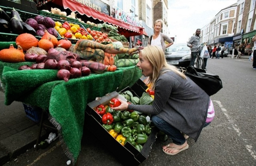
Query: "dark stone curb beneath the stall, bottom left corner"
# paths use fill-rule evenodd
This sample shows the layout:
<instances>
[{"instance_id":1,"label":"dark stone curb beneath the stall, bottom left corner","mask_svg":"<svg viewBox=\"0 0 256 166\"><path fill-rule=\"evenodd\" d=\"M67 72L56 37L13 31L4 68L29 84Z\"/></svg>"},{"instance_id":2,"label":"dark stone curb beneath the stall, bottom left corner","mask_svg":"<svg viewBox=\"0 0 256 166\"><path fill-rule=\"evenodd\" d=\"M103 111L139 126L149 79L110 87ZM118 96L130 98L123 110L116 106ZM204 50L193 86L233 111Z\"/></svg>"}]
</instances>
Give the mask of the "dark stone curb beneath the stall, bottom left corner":
<instances>
[{"instance_id":1,"label":"dark stone curb beneath the stall, bottom left corner","mask_svg":"<svg viewBox=\"0 0 256 166\"><path fill-rule=\"evenodd\" d=\"M15 159L26 150L34 148L37 136L39 133L39 126L37 124L28 127L10 137L0 141L0 165ZM47 137L46 131L42 130L41 140Z\"/></svg>"}]
</instances>

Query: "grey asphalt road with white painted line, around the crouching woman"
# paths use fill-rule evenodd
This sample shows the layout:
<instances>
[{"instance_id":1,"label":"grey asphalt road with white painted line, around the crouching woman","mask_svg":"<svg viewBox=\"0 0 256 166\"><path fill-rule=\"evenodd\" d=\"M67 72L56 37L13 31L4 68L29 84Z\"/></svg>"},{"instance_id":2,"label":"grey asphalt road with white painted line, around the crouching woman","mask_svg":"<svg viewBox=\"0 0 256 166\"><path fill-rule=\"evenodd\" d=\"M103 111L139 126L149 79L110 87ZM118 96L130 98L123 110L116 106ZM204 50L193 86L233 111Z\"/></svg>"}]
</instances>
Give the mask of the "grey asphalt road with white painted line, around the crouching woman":
<instances>
[{"instance_id":1,"label":"grey asphalt road with white painted line, around the crouching woman","mask_svg":"<svg viewBox=\"0 0 256 166\"><path fill-rule=\"evenodd\" d=\"M189 149L175 156L164 154L162 146L168 141L157 139L140 166L256 166L256 71L252 70L252 62L208 59L207 69L208 73L219 75L223 83L222 90L211 96L215 108L213 122L203 129L197 142L188 139ZM68 160L60 142L55 141L45 150L30 149L4 166L62 166ZM84 129L78 165L122 164L93 133Z\"/></svg>"}]
</instances>

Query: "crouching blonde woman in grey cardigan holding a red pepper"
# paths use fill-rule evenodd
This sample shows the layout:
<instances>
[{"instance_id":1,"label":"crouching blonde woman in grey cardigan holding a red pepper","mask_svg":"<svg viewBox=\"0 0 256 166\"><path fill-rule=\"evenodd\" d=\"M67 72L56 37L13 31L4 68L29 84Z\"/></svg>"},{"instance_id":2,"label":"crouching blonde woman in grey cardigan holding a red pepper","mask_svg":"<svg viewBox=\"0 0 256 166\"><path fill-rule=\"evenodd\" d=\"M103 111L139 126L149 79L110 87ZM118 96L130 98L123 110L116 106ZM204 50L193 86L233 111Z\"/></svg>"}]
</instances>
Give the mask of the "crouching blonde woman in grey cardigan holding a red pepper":
<instances>
[{"instance_id":1,"label":"crouching blonde woman in grey cardigan holding a red pepper","mask_svg":"<svg viewBox=\"0 0 256 166\"><path fill-rule=\"evenodd\" d=\"M137 110L151 114L156 127L172 140L163 146L164 153L175 155L189 146L182 133L197 141L203 127L214 118L210 97L175 66L168 65L163 50L158 46L146 46L139 53L137 66L155 90L152 105L133 105L121 101L114 110ZM181 133L182 132L182 133Z\"/></svg>"}]
</instances>

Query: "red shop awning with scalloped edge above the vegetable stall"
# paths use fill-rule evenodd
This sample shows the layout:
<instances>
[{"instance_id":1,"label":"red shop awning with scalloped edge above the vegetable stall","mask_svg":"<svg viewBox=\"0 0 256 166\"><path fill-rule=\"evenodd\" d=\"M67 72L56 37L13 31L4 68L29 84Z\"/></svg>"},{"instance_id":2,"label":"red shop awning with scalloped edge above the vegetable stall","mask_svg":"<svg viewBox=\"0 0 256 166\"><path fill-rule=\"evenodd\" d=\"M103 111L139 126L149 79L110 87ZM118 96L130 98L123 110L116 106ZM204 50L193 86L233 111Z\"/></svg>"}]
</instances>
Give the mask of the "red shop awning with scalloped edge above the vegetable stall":
<instances>
[{"instance_id":1,"label":"red shop awning with scalloped edge above the vegetable stall","mask_svg":"<svg viewBox=\"0 0 256 166\"><path fill-rule=\"evenodd\" d=\"M55 1L61 1L61 0L55 0ZM65 9L69 8L71 11L79 12L79 14L81 15L85 14L88 17L94 18L95 20L97 19L97 20L106 22L108 24L118 26L119 33L121 35L124 35L125 37L137 36L137 35L143 34L144 28L133 26L125 22L122 22L121 20L117 20L102 12L94 10L93 8L90 8L82 3L79 3L76 0L62 0L62 3Z\"/></svg>"}]
</instances>

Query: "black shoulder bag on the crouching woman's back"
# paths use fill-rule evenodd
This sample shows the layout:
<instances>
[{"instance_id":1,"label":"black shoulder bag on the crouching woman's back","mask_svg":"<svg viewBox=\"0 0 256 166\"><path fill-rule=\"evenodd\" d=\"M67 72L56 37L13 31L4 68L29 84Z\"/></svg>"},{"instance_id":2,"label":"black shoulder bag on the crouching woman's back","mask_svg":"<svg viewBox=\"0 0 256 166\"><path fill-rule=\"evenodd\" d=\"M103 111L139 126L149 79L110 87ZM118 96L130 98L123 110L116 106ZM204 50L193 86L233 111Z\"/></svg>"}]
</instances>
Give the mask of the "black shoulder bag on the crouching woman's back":
<instances>
[{"instance_id":1,"label":"black shoulder bag on the crouching woman's back","mask_svg":"<svg viewBox=\"0 0 256 166\"><path fill-rule=\"evenodd\" d=\"M185 72L185 75L193 80L209 96L214 95L221 88L223 88L222 81L218 75L206 73L205 70L193 66L179 69L181 70L181 72Z\"/></svg>"}]
</instances>

